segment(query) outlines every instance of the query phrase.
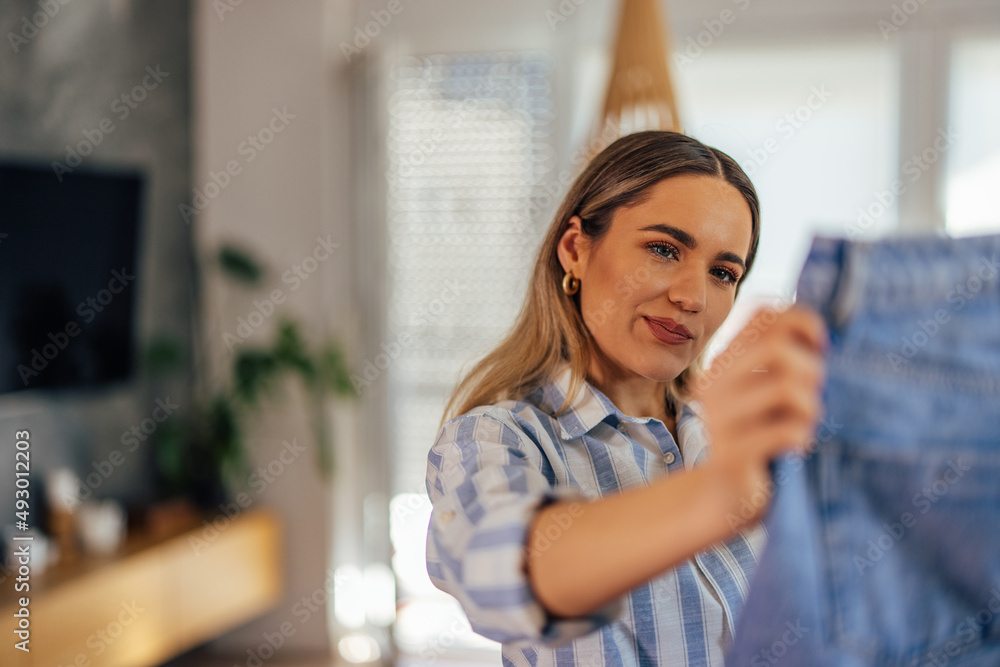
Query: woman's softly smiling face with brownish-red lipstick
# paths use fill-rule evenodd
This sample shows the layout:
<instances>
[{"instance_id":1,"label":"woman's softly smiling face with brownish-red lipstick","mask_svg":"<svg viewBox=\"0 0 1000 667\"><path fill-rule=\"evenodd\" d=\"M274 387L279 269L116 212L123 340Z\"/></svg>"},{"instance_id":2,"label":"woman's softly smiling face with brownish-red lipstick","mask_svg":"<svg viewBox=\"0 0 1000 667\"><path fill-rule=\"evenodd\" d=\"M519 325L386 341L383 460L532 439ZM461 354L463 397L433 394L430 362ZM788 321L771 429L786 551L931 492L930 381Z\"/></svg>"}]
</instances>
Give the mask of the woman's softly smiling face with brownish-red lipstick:
<instances>
[{"instance_id":1,"label":"woman's softly smiling face with brownish-red lipstick","mask_svg":"<svg viewBox=\"0 0 1000 667\"><path fill-rule=\"evenodd\" d=\"M618 209L596 247L574 216L559 242L583 320L612 375L676 378L729 315L750 250L750 207L714 176L660 181Z\"/></svg>"}]
</instances>

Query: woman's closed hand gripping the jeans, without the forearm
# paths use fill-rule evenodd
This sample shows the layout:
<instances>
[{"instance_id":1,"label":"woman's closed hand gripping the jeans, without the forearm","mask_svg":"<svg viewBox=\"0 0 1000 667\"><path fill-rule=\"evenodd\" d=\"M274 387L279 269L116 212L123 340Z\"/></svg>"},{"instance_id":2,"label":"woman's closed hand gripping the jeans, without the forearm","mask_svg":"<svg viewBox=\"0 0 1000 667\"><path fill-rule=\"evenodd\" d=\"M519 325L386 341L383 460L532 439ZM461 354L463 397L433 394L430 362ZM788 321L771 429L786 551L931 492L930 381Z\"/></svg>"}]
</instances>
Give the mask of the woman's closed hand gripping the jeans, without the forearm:
<instances>
[{"instance_id":1,"label":"woman's closed hand gripping the jeans, without the forearm","mask_svg":"<svg viewBox=\"0 0 1000 667\"><path fill-rule=\"evenodd\" d=\"M769 461L809 449L822 412L827 331L814 311L756 313L704 376L693 398L705 411L713 472L735 521L752 523L767 508Z\"/></svg>"}]
</instances>

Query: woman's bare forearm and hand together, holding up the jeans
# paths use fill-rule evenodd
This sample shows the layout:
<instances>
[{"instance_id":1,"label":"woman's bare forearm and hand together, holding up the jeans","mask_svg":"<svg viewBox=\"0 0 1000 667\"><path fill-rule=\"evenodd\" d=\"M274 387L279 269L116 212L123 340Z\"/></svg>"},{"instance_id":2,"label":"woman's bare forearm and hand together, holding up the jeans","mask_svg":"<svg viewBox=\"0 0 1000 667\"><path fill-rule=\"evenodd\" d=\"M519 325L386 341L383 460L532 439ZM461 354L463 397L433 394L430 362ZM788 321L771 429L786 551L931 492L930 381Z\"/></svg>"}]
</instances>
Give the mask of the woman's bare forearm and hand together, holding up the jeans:
<instances>
[{"instance_id":1,"label":"woman's bare forearm and hand together, holding up the jeans","mask_svg":"<svg viewBox=\"0 0 1000 667\"><path fill-rule=\"evenodd\" d=\"M696 380L712 438L705 465L575 508L561 501L539 510L527 567L542 605L567 618L591 613L757 520L770 497L769 460L809 447L825 340L811 311L758 313Z\"/></svg>"}]
</instances>

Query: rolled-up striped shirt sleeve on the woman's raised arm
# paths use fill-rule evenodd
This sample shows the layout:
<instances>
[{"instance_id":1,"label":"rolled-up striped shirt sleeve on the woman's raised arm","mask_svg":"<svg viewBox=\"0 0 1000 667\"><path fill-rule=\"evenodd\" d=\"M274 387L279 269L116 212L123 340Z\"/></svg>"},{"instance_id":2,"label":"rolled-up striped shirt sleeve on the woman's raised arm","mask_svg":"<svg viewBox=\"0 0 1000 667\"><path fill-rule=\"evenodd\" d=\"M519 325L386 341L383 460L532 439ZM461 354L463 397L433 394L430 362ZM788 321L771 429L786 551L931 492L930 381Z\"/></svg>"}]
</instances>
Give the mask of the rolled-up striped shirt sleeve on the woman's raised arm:
<instances>
[{"instance_id":1,"label":"rolled-up striped shirt sleeve on the woman's raised arm","mask_svg":"<svg viewBox=\"0 0 1000 667\"><path fill-rule=\"evenodd\" d=\"M557 500L585 500L577 489L550 485L542 457L520 429L471 414L442 426L427 458L427 573L459 601L473 630L505 644L561 646L610 623L624 606L622 595L587 616L563 618L535 596L525 547L532 517Z\"/></svg>"}]
</instances>

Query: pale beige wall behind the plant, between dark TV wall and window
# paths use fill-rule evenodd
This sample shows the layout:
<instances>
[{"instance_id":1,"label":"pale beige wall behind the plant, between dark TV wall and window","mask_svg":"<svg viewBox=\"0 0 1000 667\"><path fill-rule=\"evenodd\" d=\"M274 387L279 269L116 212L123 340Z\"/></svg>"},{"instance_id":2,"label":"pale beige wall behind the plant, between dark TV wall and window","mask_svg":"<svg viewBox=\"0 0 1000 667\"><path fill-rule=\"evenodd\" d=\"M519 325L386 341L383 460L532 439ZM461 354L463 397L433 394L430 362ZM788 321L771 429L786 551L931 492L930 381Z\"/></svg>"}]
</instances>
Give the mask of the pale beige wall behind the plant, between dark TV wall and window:
<instances>
[{"instance_id":1,"label":"pale beige wall behind the plant, between dark TV wall and window","mask_svg":"<svg viewBox=\"0 0 1000 667\"><path fill-rule=\"evenodd\" d=\"M331 333L346 335L351 320L348 292L338 289L348 283L352 268L345 197L347 84L343 60L331 60L328 52L331 42L340 41L337 31L349 22L348 3L234 2L229 3L233 11L220 16L222 4L196 0L193 5L193 184L204 192L211 173L225 171L230 161L239 173L198 214L197 246L205 257L223 240L239 242L272 272L268 287L254 291L223 284L206 272L209 355L203 370L214 377L224 376L231 364L223 334L235 333L237 318L253 309L252 300L272 289L280 289L285 301L243 347L268 344L280 316L298 319L313 344ZM294 118L253 155L244 142L268 127L274 109L287 110ZM209 194L214 193L210 186ZM283 281L283 272L312 255L319 236L329 236L340 247L298 288ZM260 487L250 491L258 504L277 510L284 520L285 600L272 614L216 642L220 652L246 658L246 650L263 641L261 633L279 631L282 623L294 628L283 653L329 647L325 609L306 620L304 607L294 606L324 589L332 535L330 492L315 463L311 418L303 393L293 391L250 429L258 465L274 460L285 440L307 443L308 451L285 466L262 493L256 493Z\"/></svg>"}]
</instances>

